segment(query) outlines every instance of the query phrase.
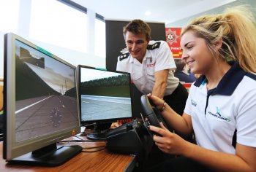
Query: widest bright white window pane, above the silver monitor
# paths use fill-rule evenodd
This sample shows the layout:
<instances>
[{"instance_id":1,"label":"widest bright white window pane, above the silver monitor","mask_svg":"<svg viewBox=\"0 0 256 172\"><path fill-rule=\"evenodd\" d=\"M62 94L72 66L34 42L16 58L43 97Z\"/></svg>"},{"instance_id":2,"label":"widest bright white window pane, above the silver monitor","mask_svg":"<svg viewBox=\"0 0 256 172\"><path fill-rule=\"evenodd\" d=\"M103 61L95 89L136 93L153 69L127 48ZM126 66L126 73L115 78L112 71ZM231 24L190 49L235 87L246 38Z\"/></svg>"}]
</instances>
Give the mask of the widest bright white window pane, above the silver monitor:
<instances>
[{"instance_id":1,"label":"widest bright white window pane, above the silver monitor","mask_svg":"<svg viewBox=\"0 0 256 172\"><path fill-rule=\"evenodd\" d=\"M29 37L71 50L86 50L87 15L59 1L32 0Z\"/></svg>"}]
</instances>

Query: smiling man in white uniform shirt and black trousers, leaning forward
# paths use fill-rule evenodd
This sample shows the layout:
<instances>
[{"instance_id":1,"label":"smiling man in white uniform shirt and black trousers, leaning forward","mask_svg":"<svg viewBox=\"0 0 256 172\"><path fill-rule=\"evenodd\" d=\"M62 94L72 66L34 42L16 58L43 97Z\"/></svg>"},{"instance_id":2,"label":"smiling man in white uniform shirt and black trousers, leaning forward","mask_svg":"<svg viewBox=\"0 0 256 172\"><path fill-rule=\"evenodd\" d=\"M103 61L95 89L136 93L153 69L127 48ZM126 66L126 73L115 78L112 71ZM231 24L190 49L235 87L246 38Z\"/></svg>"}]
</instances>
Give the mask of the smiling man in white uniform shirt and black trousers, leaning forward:
<instances>
[{"instance_id":1,"label":"smiling man in white uniform shirt and black trousers, leaning forward","mask_svg":"<svg viewBox=\"0 0 256 172\"><path fill-rule=\"evenodd\" d=\"M176 64L167 43L151 41L151 28L143 20L124 26L124 39L127 51L118 57L116 70L129 72L141 93L157 95L183 114L188 93L173 75Z\"/></svg>"}]
</instances>

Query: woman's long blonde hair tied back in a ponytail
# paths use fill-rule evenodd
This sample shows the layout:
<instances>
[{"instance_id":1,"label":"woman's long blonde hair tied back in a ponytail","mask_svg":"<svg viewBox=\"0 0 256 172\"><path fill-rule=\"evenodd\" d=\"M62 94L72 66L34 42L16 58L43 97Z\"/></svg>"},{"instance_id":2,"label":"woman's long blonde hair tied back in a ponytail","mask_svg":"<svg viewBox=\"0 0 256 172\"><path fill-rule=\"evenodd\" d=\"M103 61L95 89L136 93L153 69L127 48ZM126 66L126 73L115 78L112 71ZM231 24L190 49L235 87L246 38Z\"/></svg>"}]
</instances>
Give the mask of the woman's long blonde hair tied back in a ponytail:
<instances>
[{"instance_id":1,"label":"woman's long blonde hair tied back in a ponytail","mask_svg":"<svg viewBox=\"0 0 256 172\"><path fill-rule=\"evenodd\" d=\"M256 73L256 28L255 19L248 5L227 8L223 14L206 15L192 20L182 29L206 40L217 59L229 63L236 61L244 71ZM222 39L222 47L214 52L213 45Z\"/></svg>"}]
</instances>

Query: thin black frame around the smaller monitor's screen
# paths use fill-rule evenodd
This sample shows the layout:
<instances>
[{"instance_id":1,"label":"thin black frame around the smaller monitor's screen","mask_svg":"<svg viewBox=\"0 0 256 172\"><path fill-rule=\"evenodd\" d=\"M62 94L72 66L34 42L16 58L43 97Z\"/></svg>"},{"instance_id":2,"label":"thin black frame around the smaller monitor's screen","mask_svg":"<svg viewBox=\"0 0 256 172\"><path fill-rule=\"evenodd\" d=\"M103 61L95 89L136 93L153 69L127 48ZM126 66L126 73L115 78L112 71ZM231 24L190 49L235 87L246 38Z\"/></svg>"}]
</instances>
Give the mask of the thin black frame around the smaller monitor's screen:
<instances>
[{"instance_id":1,"label":"thin black frame around the smaller monitor's screen","mask_svg":"<svg viewBox=\"0 0 256 172\"><path fill-rule=\"evenodd\" d=\"M81 76L80 76L80 71L82 68L86 68L86 69L94 69L94 70L99 70L99 71L110 71L110 72L115 72L118 74L127 74L129 76L129 97L131 98L131 116L130 117L117 117L117 118L106 118L106 119L100 119L100 120L82 120L82 112L81 112L81 91L80 91L80 83L81 83ZM92 66L85 66L85 65L78 65L77 66L77 71L78 71L78 103L79 103L79 114L80 114L80 123L81 126L86 126L86 125L90 125L93 123L105 123L105 122L115 122L117 120L126 120L126 119L132 119L133 115L133 106L132 106L132 90L131 90L131 83L132 83L132 79L131 79L131 74L129 72L124 72L124 71L115 71L115 70L110 70L110 69L101 69L101 68L95 68Z\"/></svg>"}]
</instances>

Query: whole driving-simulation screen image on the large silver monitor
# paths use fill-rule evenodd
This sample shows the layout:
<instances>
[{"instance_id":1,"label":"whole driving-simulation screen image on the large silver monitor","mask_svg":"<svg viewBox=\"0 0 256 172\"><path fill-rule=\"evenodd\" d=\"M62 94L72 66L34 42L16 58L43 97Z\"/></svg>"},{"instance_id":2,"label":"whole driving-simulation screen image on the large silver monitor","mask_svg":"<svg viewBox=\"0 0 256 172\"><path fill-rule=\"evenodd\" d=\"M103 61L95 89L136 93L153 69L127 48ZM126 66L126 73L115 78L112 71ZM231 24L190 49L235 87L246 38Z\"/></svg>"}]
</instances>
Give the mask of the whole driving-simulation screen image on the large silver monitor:
<instances>
[{"instance_id":1,"label":"whole driving-simulation screen image on the large silver monitor","mask_svg":"<svg viewBox=\"0 0 256 172\"><path fill-rule=\"evenodd\" d=\"M75 69L16 40L16 141L77 126Z\"/></svg>"}]
</instances>

